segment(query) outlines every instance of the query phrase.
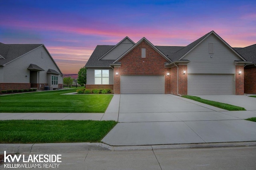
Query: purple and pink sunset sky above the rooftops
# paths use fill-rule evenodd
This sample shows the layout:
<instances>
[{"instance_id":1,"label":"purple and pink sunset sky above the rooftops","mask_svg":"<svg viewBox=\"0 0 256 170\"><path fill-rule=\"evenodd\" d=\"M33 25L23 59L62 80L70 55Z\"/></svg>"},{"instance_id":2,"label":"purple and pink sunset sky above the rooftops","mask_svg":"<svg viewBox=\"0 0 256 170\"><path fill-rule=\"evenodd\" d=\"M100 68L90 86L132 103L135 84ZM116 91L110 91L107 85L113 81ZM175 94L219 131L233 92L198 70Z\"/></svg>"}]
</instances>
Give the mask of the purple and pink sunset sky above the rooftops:
<instances>
[{"instance_id":1,"label":"purple and pink sunset sky above the rooftops","mask_svg":"<svg viewBox=\"0 0 256 170\"><path fill-rule=\"evenodd\" d=\"M96 45L128 36L186 46L214 30L231 47L256 43L255 0L0 0L0 42L44 44L64 74Z\"/></svg>"}]
</instances>

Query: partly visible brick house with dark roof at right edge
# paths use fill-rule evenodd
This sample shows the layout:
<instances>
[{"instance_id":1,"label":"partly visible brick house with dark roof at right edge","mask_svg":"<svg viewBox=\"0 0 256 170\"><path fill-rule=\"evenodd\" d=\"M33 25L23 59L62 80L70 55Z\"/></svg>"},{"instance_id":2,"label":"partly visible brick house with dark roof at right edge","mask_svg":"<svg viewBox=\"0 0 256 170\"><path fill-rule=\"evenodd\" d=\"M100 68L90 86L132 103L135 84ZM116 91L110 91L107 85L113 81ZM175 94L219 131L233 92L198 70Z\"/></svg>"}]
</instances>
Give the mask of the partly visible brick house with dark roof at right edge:
<instances>
[{"instance_id":1,"label":"partly visible brick house with dark roof at right edge","mask_svg":"<svg viewBox=\"0 0 256 170\"><path fill-rule=\"evenodd\" d=\"M256 44L235 49L247 61L252 62L244 67L244 93L256 94Z\"/></svg>"}]
</instances>

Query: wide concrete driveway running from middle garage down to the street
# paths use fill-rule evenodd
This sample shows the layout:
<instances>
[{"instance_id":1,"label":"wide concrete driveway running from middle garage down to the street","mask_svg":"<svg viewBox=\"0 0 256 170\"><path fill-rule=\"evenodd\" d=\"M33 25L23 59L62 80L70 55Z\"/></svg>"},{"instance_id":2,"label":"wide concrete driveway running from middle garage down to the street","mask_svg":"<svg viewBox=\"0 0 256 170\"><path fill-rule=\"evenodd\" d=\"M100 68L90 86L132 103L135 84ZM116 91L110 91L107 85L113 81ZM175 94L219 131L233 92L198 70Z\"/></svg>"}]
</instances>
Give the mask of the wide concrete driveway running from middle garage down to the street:
<instances>
[{"instance_id":1,"label":"wide concrete driveway running from middle garage down to the street","mask_svg":"<svg viewBox=\"0 0 256 170\"><path fill-rule=\"evenodd\" d=\"M168 94L121 94L112 146L256 141L256 123L230 111ZM256 117L256 112L240 112ZM246 116L247 115L247 116Z\"/></svg>"}]
</instances>

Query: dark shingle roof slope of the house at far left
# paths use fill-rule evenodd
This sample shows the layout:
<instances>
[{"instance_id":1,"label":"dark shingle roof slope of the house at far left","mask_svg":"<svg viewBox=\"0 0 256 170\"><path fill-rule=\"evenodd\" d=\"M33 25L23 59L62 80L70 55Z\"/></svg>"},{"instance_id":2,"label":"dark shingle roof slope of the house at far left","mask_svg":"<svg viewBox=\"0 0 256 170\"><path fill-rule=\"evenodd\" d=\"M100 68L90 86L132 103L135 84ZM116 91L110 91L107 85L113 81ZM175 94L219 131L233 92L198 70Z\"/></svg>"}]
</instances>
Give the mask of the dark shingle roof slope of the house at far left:
<instances>
[{"instance_id":1,"label":"dark shingle roof slope of the house at far left","mask_svg":"<svg viewBox=\"0 0 256 170\"><path fill-rule=\"evenodd\" d=\"M0 65L6 64L43 44L4 44L0 43Z\"/></svg>"}]
</instances>

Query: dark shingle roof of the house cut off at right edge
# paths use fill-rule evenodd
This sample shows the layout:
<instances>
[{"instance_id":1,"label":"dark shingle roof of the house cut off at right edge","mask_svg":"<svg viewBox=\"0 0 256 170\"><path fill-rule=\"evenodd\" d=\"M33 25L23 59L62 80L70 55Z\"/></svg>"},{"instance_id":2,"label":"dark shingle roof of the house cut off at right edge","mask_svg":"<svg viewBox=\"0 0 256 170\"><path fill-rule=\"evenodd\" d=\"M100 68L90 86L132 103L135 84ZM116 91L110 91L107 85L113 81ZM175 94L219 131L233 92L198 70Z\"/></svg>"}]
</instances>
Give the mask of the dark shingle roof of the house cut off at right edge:
<instances>
[{"instance_id":1,"label":"dark shingle roof of the house cut off at right edge","mask_svg":"<svg viewBox=\"0 0 256 170\"><path fill-rule=\"evenodd\" d=\"M240 48L236 50L236 52L242 55L242 57L244 57L244 59L247 61L251 61L252 63L250 64L256 64L256 44Z\"/></svg>"}]
</instances>

